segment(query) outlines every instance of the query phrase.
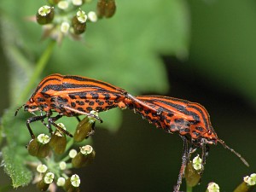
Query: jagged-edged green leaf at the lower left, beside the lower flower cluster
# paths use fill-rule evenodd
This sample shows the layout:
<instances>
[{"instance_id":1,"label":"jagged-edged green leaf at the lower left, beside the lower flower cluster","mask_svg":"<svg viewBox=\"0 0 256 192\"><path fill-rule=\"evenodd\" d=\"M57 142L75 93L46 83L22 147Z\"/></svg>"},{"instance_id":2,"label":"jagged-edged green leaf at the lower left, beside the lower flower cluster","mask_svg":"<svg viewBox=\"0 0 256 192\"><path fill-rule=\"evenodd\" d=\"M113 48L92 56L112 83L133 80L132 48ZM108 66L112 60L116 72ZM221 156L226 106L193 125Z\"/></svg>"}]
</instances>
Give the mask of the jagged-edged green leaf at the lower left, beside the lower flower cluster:
<instances>
[{"instance_id":1,"label":"jagged-edged green leaf at the lower left, beside the lower flower cluster","mask_svg":"<svg viewBox=\"0 0 256 192\"><path fill-rule=\"evenodd\" d=\"M14 108L10 108L3 114L2 128L7 140L7 146L2 149L4 171L11 177L13 187L17 188L31 182L32 172L26 167L27 151L25 144L29 141L28 132L19 130L25 121L21 123L19 118L14 119Z\"/></svg>"}]
</instances>

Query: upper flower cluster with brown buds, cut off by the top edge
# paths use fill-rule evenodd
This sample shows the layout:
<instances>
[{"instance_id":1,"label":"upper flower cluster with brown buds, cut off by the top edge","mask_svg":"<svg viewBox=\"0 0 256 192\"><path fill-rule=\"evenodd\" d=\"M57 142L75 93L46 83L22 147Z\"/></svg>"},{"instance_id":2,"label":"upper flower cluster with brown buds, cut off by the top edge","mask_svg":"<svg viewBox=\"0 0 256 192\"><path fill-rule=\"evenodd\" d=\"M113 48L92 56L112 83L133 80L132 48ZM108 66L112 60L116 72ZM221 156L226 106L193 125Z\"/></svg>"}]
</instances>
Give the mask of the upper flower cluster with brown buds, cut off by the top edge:
<instances>
[{"instance_id":1,"label":"upper flower cluster with brown buds, cut off by the top edge","mask_svg":"<svg viewBox=\"0 0 256 192\"><path fill-rule=\"evenodd\" d=\"M48 0L48 5L38 9L36 20L44 26L44 38L61 42L65 36L79 39L86 30L87 22L96 22L115 13L114 0L98 0L96 11L85 13L81 8L91 0Z\"/></svg>"}]
</instances>

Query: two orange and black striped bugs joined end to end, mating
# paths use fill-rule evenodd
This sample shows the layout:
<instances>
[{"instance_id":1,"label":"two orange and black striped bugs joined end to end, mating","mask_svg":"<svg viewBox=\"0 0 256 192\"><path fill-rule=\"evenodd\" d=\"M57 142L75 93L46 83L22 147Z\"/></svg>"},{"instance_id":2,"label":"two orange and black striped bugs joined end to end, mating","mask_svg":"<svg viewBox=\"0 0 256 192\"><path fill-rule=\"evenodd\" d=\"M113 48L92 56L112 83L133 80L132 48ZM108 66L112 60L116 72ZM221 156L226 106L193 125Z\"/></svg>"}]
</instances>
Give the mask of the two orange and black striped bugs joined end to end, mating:
<instances>
[{"instance_id":1,"label":"two orange and black striped bugs joined end to end, mating","mask_svg":"<svg viewBox=\"0 0 256 192\"><path fill-rule=\"evenodd\" d=\"M230 149L248 166L241 154L218 138L212 128L206 108L199 103L168 96L131 96L130 93L117 86L96 79L52 74L38 84L31 98L20 108L22 107L25 111L34 114L26 120L26 126L32 138L35 136L30 124L34 121L42 121L50 132L52 132L51 125L53 125L72 137L71 133L56 125L55 121L62 116L88 115L102 122L102 119L90 112L93 110L102 112L111 108L130 108L135 113L139 113L143 119L147 119L149 123L162 128L167 133L177 131L183 139L183 158L177 185L174 187L175 192L179 191L190 153L196 148L201 148L202 151L202 168L206 164L208 146L217 143ZM17 109L15 115L20 108ZM40 115L34 113L36 111L39 111ZM58 113L54 117L53 111ZM44 119L48 119L48 123L45 123Z\"/></svg>"}]
</instances>

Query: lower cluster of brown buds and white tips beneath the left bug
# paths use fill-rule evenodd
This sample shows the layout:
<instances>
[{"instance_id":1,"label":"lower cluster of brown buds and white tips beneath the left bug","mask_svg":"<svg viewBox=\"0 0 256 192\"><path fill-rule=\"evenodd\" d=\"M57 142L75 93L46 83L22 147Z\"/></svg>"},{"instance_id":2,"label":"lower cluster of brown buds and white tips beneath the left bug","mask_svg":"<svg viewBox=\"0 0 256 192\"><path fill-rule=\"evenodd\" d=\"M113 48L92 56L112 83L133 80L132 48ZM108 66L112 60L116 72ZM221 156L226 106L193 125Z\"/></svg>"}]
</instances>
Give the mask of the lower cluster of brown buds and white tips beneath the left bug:
<instances>
[{"instance_id":1,"label":"lower cluster of brown buds and white tips beneath the left bug","mask_svg":"<svg viewBox=\"0 0 256 192\"><path fill-rule=\"evenodd\" d=\"M90 145L80 147L79 151L71 147L73 143L82 142L89 137L93 133L94 124L94 118L85 117L79 122L74 137L68 141L65 133L56 130L50 137L39 134L28 143L28 153L38 158L36 163L31 164L37 170L34 183L37 183L38 189L54 191L55 187L49 186L55 185L65 191L80 191L80 178L77 174L71 175L70 169L90 165L96 152ZM58 125L66 130L63 124Z\"/></svg>"}]
</instances>

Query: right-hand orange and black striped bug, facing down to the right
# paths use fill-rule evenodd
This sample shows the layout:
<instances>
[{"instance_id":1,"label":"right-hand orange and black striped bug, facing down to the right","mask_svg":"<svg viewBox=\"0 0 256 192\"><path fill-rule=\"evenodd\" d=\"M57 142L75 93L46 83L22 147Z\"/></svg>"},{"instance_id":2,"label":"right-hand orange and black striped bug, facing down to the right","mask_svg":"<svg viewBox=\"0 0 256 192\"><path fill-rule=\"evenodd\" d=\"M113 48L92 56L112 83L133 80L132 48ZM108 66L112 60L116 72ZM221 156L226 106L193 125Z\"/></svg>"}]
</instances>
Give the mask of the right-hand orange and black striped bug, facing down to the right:
<instances>
[{"instance_id":1,"label":"right-hand orange and black striped bug, facing down to the right","mask_svg":"<svg viewBox=\"0 0 256 192\"><path fill-rule=\"evenodd\" d=\"M149 123L164 129L168 133L177 131L183 138L182 166L178 175L177 186L174 189L175 192L179 190L182 183L183 172L189 161L189 156L196 148L202 150L201 174L206 164L209 144L221 143L224 148L230 149L248 166L247 161L241 157L241 154L238 154L218 138L212 128L207 109L201 104L168 96L137 96L136 98L136 102L127 100L125 102L126 106L133 109L135 113L139 113Z\"/></svg>"}]
</instances>

